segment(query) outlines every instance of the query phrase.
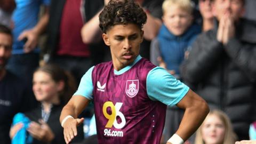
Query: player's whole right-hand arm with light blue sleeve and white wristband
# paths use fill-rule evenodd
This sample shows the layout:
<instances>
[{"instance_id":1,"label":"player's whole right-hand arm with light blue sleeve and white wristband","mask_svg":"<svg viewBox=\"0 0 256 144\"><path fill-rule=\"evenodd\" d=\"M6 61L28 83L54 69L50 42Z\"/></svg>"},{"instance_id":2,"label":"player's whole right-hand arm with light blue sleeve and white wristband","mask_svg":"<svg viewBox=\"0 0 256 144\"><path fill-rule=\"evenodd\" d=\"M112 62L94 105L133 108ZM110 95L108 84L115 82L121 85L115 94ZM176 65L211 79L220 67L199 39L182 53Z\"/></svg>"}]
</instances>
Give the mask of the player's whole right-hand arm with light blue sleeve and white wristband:
<instances>
[{"instance_id":1,"label":"player's whole right-hand arm with light blue sleeve and white wristband","mask_svg":"<svg viewBox=\"0 0 256 144\"><path fill-rule=\"evenodd\" d=\"M149 71L147 93L151 100L160 101L169 107L176 105L185 109L179 129L168 143L180 144L186 141L209 113L207 103L199 95L161 67Z\"/></svg>"}]
</instances>

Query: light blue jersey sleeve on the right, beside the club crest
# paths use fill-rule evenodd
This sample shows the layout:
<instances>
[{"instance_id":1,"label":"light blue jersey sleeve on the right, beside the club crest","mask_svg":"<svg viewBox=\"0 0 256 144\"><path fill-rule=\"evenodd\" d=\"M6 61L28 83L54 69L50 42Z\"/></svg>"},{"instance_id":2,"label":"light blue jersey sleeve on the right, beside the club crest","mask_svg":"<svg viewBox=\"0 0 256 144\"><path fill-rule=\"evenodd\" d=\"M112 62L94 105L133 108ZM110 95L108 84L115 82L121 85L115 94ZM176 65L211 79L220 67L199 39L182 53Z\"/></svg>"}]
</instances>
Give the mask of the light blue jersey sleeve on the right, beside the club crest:
<instances>
[{"instance_id":1,"label":"light blue jersey sleeve on the right, beside the club crest","mask_svg":"<svg viewBox=\"0 0 256 144\"><path fill-rule=\"evenodd\" d=\"M161 67L149 71L146 83L148 97L167 106L176 105L189 90L187 85Z\"/></svg>"}]
</instances>

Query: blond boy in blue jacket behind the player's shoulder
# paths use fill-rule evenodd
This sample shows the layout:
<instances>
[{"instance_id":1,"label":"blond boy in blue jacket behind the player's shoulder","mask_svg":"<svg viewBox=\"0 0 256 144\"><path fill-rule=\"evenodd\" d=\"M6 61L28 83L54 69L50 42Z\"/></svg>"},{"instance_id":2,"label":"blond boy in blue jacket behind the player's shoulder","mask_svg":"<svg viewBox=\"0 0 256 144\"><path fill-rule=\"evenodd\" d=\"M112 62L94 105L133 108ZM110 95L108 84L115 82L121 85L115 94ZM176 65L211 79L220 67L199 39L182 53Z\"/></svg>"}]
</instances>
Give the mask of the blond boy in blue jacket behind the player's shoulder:
<instances>
[{"instance_id":1,"label":"blond boy in blue jacket behind the player's shoulder","mask_svg":"<svg viewBox=\"0 0 256 144\"><path fill-rule=\"evenodd\" d=\"M194 7L190 0L165 0L162 9L163 25L151 43L150 60L179 78L185 51L201 33L201 27L193 23Z\"/></svg>"}]
</instances>

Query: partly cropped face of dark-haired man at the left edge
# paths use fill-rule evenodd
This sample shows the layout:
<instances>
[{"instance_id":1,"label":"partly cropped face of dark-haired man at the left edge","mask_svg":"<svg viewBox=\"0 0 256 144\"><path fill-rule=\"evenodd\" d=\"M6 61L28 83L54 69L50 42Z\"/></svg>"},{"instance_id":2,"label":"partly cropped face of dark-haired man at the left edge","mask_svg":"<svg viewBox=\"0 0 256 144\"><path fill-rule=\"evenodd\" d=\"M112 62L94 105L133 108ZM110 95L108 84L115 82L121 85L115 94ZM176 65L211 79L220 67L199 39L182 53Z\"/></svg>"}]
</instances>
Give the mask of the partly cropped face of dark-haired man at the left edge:
<instances>
[{"instance_id":1,"label":"partly cropped face of dark-haired man at the left edge","mask_svg":"<svg viewBox=\"0 0 256 144\"><path fill-rule=\"evenodd\" d=\"M7 60L11 57L11 51L11 35L0 33L0 70L5 67Z\"/></svg>"}]
</instances>

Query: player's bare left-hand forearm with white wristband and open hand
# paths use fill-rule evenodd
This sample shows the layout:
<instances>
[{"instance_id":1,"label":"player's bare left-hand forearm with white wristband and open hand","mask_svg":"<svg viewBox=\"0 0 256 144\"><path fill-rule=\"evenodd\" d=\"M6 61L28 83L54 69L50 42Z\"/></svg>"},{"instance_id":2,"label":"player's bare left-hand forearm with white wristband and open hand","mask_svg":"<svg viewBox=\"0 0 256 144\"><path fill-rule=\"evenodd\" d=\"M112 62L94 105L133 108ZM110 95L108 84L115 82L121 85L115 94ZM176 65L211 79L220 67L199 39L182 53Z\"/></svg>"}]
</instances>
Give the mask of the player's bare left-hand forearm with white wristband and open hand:
<instances>
[{"instance_id":1,"label":"player's bare left-hand forearm with white wristband and open hand","mask_svg":"<svg viewBox=\"0 0 256 144\"><path fill-rule=\"evenodd\" d=\"M63 107L60 115L60 123L66 143L69 143L77 135L77 126L82 124L84 118L77 118L90 102L82 95L74 95L66 106Z\"/></svg>"}]
</instances>

